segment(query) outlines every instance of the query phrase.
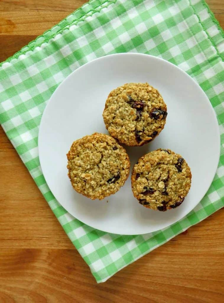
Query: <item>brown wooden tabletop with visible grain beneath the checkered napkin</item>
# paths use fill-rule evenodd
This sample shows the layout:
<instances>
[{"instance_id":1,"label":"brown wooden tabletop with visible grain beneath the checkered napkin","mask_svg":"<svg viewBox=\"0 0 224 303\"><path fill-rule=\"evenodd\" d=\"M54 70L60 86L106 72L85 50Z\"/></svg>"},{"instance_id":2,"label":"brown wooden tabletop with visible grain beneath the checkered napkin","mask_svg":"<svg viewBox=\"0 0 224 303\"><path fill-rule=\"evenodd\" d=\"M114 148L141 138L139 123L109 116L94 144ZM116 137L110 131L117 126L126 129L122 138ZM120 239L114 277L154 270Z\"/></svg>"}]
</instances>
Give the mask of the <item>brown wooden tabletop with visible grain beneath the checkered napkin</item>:
<instances>
[{"instance_id":1,"label":"brown wooden tabletop with visible grain beneath the checkered napkin","mask_svg":"<svg viewBox=\"0 0 224 303\"><path fill-rule=\"evenodd\" d=\"M1 0L0 62L84 2ZM0 172L1 303L224 301L222 210L97 285L2 128Z\"/></svg>"}]
</instances>

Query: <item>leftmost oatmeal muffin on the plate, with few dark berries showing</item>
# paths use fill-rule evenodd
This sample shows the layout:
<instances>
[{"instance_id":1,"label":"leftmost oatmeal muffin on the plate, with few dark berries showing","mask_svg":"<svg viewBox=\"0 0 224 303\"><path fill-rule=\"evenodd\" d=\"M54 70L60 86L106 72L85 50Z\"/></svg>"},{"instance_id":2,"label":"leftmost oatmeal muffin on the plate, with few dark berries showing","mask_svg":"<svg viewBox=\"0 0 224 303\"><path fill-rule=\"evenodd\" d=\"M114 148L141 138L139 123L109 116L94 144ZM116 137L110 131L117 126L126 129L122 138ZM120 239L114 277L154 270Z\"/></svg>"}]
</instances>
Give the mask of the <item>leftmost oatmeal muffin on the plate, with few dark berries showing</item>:
<instances>
[{"instance_id":1,"label":"leftmost oatmeal muffin on the plate, with few dark berries showing","mask_svg":"<svg viewBox=\"0 0 224 303\"><path fill-rule=\"evenodd\" d=\"M125 149L105 134L94 133L74 141L67 158L72 187L92 200L115 194L129 175Z\"/></svg>"}]
</instances>

